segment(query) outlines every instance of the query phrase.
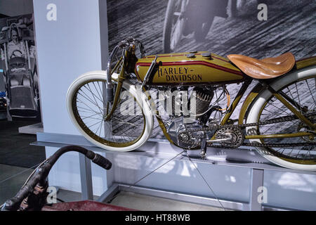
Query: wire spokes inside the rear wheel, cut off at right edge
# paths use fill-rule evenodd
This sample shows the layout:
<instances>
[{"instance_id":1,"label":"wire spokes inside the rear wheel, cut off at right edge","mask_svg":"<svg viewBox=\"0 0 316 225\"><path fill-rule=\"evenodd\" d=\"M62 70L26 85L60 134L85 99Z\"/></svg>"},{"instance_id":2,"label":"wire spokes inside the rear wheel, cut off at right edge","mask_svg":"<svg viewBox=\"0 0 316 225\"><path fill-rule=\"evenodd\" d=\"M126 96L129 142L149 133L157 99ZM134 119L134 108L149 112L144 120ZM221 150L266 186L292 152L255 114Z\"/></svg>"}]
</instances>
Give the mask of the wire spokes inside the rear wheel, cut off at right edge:
<instances>
[{"instance_id":1,"label":"wire spokes inside the rear wheel, cut off at right edge","mask_svg":"<svg viewBox=\"0 0 316 225\"><path fill-rule=\"evenodd\" d=\"M314 78L312 78L314 79ZM291 98L291 104L294 105L302 115L307 115L308 113L315 112L315 87L310 85L312 82L310 79L303 79L289 86L285 86L282 90L279 91L286 94ZM313 83L311 83L313 84ZM308 110L305 111L305 106L308 105ZM270 98L268 103L265 104L265 108L261 112L260 122L280 119L282 117L293 116L293 113L288 108L281 106L280 103L275 97ZM304 111L304 112L303 112ZM285 116L283 116L285 115ZM308 116L308 118L313 118L314 115ZM315 118L315 117L314 117ZM312 119L315 120L315 119ZM258 134L267 135L267 134L294 134L297 132L305 131L304 124L298 118L277 122L275 124L263 124L259 125ZM301 137L291 137L291 138L277 138L277 139L263 139L263 143L305 143L308 141L308 136ZM315 142L315 141L314 141ZM316 143L315 143L316 145ZM315 146L293 146L287 148L268 148L269 151L276 152L278 157L281 155L282 158L287 159L291 158L296 160L296 163L305 163L306 160L314 160L316 162L316 152ZM314 153L312 153L314 152Z\"/></svg>"}]
</instances>

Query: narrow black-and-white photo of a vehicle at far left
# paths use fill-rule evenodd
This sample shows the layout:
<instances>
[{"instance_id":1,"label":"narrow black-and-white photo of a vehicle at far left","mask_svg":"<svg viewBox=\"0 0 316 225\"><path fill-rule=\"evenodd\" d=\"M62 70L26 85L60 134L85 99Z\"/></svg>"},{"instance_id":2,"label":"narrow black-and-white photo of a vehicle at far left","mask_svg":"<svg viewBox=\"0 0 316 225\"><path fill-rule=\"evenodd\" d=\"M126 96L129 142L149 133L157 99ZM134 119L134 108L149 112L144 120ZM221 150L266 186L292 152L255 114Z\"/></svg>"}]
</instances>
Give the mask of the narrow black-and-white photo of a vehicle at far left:
<instances>
[{"instance_id":1,"label":"narrow black-and-white photo of a vehicle at far left","mask_svg":"<svg viewBox=\"0 0 316 225\"><path fill-rule=\"evenodd\" d=\"M40 120L32 14L2 18L0 29L0 79L4 79L8 120Z\"/></svg>"}]
</instances>

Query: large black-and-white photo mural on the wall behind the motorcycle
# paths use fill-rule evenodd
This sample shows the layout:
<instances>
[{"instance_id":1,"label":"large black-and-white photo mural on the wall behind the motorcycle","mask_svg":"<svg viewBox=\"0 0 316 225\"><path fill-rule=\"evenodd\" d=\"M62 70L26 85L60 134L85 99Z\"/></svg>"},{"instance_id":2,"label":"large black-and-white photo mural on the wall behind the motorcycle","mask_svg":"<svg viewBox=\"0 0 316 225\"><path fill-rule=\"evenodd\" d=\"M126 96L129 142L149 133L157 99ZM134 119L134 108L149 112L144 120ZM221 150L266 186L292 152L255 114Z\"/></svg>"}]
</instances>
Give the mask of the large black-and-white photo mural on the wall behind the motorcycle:
<instances>
[{"instance_id":1,"label":"large black-and-white photo mural on the wall behind the motorcycle","mask_svg":"<svg viewBox=\"0 0 316 225\"><path fill-rule=\"evenodd\" d=\"M300 60L316 55L315 12L313 0L107 0L109 51L132 36L142 41L147 55L209 51L263 59L291 52ZM240 86L227 85L232 99ZM299 89L312 98L306 84ZM153 136L163 137L159 126Z\"/></svg>"}]
</instances>

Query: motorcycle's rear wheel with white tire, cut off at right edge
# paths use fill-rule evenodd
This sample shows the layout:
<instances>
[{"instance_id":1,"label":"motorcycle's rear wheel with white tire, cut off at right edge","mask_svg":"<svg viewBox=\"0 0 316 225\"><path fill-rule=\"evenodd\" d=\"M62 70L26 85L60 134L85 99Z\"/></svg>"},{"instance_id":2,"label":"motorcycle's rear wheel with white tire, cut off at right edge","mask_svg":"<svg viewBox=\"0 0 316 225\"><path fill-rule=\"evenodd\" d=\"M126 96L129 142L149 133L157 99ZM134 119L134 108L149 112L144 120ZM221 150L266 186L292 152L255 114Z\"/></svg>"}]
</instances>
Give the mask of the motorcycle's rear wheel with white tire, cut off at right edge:
<instances>
[{"instance_id":1,"label":"motorcycle's rear wheel with white tire, cut off at right edge","mask_svg":"<svg viewBox=\"0 0 316 225\"><path fill-rule=\"evenodd\" d=\"M316 66L291 72L271 84L287 101L313 124L316 122ZM291 117L291 120L286 120ZM246 136L270 135L274 138L249 139L251 143L267 144L256 147L258 153L282 167L316 171L315 129L294 116L294 113L281 103L270 91L261 91L249 110L246 123L279 120L273 124L261 124L247 127ZM298 136L303 132L310 135ZM292 134L278 136L275 134ZM283 146L272 146L278 143ZM270 146L268 146L270 144ZM305 146L303 146L305 144Z\"/></svg>"}]
</instances>

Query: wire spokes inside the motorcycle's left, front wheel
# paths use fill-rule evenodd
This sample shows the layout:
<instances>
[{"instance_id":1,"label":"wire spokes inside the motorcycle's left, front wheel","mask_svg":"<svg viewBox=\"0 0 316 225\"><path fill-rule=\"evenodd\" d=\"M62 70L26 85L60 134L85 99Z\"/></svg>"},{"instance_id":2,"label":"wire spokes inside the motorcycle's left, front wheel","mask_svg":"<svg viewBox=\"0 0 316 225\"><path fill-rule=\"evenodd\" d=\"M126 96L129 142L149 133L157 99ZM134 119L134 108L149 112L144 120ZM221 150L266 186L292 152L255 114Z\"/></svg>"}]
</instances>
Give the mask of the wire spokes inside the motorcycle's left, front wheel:
<instances>
[{"instance_id":1,"label":"wire spokes inside the motorcycle's left, front wheel","mask_svg":"<svg viewBox=\"0 0 316 225\"><path fill-rule=\"evenodd\" d=\"M103 83L104 82L91 81L81 86L77 91L77 111L81 121L85 124L86 128L89 129L89 132L92 132L93 136L98 136L100 139L112 143L129 143L136 140L140 135L143 135L143 129L145 127L144 115L125 115L125 113L123 115L121 110L119 110L121 105L125 104L124 110L127 110L127 112L134 110L135 112L138 105L136 99L127 98L126 96L133 95L124 92L124 95L120 96L119 102L117 103L117 110L114 111L109 121L105 121L105 113L112 110L112 105L107 107L109 103L103 101L104 91L102 91L103 86L101 86ZM116 86L114 82L114 91L115 89ZM131 99L133 99L133 104L129 102Z\"/></svg>"}]
</instances>

